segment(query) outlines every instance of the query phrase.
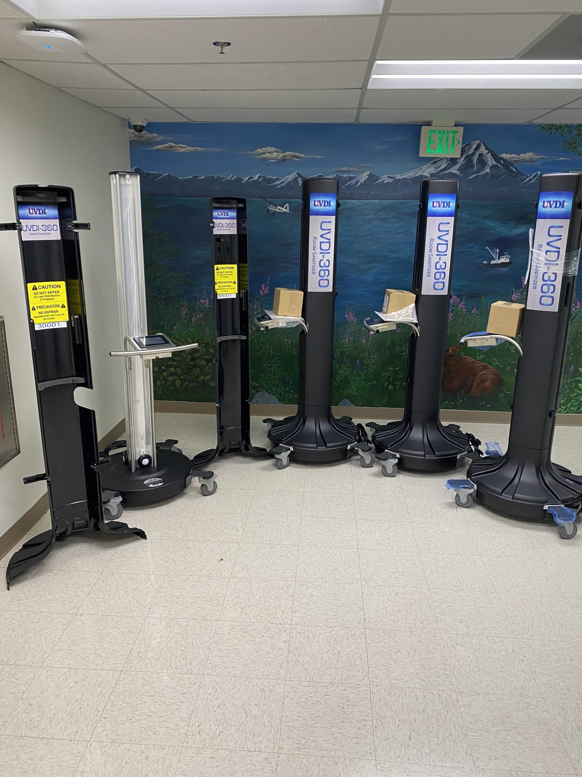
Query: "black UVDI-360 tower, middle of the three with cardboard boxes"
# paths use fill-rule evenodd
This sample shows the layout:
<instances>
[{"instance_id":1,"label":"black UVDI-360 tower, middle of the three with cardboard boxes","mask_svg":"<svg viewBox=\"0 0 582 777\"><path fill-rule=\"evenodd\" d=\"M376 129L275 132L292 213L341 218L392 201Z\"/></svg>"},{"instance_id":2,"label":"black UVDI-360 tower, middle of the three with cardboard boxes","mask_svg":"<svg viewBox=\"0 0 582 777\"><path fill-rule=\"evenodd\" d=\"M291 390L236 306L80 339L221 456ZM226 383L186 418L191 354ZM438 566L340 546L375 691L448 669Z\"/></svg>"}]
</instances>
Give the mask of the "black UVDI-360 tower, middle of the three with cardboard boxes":
<instances>
[{"instance_id":1,"label":"black UVDI-360 tower, middle of the three with cardboard boxes","mask_svg":"<svg viewBox=\"0 0 582 777\"><path fill-rule=\"evenodd\" d=\"M405 469L423 472L456 467L469 450L469 437L459 427L443 427L439 418L458 199L456 180L421 183L412 288L420 336L411 335L408 345L404 418L368 424L376 451L396 454Z\"/></svg>"}]
</instances>

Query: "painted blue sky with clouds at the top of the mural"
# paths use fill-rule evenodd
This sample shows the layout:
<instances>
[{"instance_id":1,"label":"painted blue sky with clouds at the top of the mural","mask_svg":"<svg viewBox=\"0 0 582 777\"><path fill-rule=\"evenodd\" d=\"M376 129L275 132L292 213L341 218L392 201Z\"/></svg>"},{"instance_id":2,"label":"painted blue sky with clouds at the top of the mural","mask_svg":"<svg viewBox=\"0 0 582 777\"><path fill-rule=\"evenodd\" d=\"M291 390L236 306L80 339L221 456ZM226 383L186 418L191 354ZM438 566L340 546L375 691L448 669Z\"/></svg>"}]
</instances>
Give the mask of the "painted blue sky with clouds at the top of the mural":
<instances>
[{"instance_id":1,"label":"painted blue sky with clouds at the top of the mural","mask_svg":"<svg viewBox=\"0 0 582 777\"><path fill-rule=\"evenodd\" d=\"M148 124L147 140L131 143L131 163L181 177L286 176L295 170L305 176L365 170L385 175L429 161L418 156L420 132L417 124ZM469 124L463 142L473 140L497 154L528 155L531 162L512 160L527 174L582 162L535 124ZM175 145L191 150L159 148Z\"/></svg>"}]
</instances>

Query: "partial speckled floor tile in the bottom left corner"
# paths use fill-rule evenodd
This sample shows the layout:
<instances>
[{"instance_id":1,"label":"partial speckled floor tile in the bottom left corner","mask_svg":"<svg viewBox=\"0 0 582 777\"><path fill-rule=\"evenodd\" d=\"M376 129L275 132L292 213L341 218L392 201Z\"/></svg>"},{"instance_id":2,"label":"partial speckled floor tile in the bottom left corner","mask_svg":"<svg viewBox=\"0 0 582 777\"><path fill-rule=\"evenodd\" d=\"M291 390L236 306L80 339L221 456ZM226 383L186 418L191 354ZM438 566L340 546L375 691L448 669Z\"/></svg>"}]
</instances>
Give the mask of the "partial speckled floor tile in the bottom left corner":
<instances>
[{"instance_id":1,"label":"partial speckled floor tile in the bottom left corner","mask_svg":"<svg viewBox=\"0 0 582 777\"><path fill-rule=\"evenodd\" d=\"M85 742L0 737L0 768L6 777L74 777Z\"/></svg>"}]
</instances>

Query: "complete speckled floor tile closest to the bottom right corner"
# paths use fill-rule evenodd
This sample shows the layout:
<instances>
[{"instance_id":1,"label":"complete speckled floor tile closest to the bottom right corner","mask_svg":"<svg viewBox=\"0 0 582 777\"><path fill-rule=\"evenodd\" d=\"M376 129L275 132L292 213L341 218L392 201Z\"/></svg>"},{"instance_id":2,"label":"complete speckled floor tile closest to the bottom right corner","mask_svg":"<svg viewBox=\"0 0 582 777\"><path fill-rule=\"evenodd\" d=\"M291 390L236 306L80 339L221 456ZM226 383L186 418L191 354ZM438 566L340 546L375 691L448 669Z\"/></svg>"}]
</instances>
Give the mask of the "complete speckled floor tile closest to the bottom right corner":
<instances>
[{"instance_id":1,"label":"complete speckled floor tile closest to the bottom right corner","mask_svg":"<svg viewBox=\"0 0 582 777\"><path fill-rule=\"evenodd\" d=\"M477 767L574 773L543 699L459 693L459 704Z\"/></svg>"}]
</instances>

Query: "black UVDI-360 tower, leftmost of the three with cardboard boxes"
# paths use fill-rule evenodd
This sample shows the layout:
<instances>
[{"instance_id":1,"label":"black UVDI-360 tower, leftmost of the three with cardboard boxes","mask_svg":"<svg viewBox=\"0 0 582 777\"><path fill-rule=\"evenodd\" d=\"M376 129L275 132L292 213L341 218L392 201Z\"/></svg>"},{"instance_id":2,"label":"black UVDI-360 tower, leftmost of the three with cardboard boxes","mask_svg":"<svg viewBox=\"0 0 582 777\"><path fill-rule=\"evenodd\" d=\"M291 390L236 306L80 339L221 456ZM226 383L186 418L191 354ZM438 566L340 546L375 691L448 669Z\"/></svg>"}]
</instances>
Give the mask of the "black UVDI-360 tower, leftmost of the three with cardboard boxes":
<instances>
[{"instance_id":1,"label":"black UVDI-360 tower, leftmost of the three with cardboard boxes","mask_svg":"<svg viewBox=\"0 0 582 777\"><path fill-rule=\"evenodd\" d=\"M331 414L337 212L337 180L303 181L300 287L308 332L299 336L299 402L296 416L273 422L268 431L269 440L292 448L298 462L347 458L361 438L351 419Z\"/></svg>"}]
</instances>

